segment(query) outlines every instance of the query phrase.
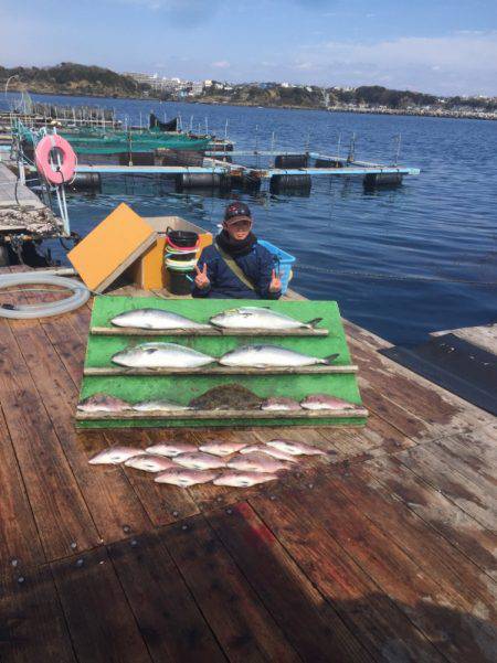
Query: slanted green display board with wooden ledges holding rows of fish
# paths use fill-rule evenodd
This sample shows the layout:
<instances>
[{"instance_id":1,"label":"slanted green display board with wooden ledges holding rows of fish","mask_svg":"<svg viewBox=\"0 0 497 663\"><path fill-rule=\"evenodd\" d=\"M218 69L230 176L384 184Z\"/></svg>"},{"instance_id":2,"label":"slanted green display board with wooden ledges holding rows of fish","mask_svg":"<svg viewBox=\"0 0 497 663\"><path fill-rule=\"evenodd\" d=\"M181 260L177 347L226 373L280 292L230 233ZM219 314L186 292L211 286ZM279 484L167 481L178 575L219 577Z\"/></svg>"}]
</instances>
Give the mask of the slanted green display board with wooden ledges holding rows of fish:
<instances>
[{"instance_id":1,"label":"slanted green display board with wooden ledges holding rows of fish","mask_svg":"<svg viewBox=\"0 0 497 663\"><path fill-rule=\"evenodd\" d=\"M166 341L188 345L209 354L221 356L239 345L269 344L296 350L304 354L325 357L339 353L334 365L349 365L350 353L343 333L337 302L335 301L253 301L222 299L176 299L165 300L139 297L96 297L93 307L91 327L112 327L110 320L131 309L160 308L197 322L209 322L209 319L226 309L240 306L261 306L281 311L296 320L307 322L322 318L319 328L329 330L327 336L172 336L167 332L163 336L124 336L88 334L85 367L116 367L110 357L129 345L150 341ZM85 375L83 378L81 399L96 393L112 394L129 403L148 399L169 399L181 405L200 396L208 389L225 384L240 384L262 398L287 396L302 400L310 394L329 394L361 406L361 397L355 373L337 374L288 374L288 375ZM288 417L278 419L92 419L77 420L80 428L118 428L118 427L205 427L205 426L329 426L366 424L364 417L302 419Z\"/></svg>"}]
</instances>

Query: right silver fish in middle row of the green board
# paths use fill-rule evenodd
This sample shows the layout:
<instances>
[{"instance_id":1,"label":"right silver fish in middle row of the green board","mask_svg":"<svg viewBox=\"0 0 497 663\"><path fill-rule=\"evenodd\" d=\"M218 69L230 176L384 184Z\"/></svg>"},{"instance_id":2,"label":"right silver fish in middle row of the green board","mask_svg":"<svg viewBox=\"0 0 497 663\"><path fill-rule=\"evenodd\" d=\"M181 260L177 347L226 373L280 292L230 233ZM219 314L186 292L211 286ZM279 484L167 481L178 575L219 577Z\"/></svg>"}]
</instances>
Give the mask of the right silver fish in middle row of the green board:
<instances>
[{"instance_id":1,"label":"right silver fish in middle row of the green board","mask_svg":"<svg viewBox=\"0 0 497 663\"><path fill-rule=\"evenodd\" d=\"M331 354L325 359L319 359L277 345L242 345L226 352L219 360L219 363L223 366L246 366L254 368L311 366L313 364L329 364L337 356L338 354Z\"/></svg>"}]
</instances>

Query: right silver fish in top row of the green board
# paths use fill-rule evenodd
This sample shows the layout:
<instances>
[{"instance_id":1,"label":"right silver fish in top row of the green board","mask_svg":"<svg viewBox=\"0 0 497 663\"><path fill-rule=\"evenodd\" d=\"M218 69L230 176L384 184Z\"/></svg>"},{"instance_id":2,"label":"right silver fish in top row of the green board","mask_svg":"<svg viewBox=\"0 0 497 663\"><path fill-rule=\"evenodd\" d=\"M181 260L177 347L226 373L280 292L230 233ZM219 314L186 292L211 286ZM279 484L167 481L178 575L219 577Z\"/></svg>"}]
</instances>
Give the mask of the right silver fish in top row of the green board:
<instances>
[{"instance_id":1,"label":"right silver fish in top row of the green board","mask_svg":"<svg viewBox=\"0 0 497 663\"><path fill-rule=\"evenodd\" d=\"M223 329L314 329L322 318L300 322L266 307L241 307L216 313L210 323Z\"/></svg>"}]
</instances>

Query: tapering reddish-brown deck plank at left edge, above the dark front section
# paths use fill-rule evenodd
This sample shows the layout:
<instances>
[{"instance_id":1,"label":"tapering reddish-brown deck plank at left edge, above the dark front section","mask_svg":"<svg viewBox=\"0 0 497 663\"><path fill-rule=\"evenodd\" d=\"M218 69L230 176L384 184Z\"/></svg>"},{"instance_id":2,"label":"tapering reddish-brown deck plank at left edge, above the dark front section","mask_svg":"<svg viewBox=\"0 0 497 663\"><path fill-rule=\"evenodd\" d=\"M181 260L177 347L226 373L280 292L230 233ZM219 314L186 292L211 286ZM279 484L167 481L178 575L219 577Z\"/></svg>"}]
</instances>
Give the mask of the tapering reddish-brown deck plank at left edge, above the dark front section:
<instances>
[{"instance_id":1,"label":"tapering reddish-brown deck plank at left edge, above the dark front section","mask_svg":"<svg viewBox=\"0 0 497 663\"><path fill-rule=\"evenodd\" d=\"M0 567L24 568L45 562L21 471L0 409Z\"/></svg>"}]
</instances>

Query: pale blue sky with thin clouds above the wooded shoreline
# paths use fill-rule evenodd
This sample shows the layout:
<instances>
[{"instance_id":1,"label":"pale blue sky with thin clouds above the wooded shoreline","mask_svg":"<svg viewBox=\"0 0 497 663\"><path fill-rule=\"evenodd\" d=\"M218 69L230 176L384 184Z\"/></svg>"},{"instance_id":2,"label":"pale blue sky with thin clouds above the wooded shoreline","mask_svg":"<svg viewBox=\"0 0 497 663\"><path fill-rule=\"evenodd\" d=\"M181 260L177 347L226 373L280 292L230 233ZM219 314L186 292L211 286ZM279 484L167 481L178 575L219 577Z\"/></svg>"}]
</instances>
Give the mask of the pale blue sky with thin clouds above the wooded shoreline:
<instances>
[{"instance_id":1,"label":"pale blue sky with thin clouds above the wooded shoreline","mask_svg":"<svg viewBox=\"0 0 497 663\"><path fill-rule=\"evenodd\" d=\"M497 96L497 0L0 0L0 64Z\"/></svg>"}]
</instances>

